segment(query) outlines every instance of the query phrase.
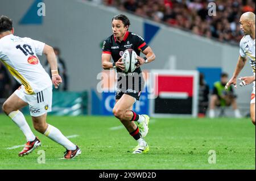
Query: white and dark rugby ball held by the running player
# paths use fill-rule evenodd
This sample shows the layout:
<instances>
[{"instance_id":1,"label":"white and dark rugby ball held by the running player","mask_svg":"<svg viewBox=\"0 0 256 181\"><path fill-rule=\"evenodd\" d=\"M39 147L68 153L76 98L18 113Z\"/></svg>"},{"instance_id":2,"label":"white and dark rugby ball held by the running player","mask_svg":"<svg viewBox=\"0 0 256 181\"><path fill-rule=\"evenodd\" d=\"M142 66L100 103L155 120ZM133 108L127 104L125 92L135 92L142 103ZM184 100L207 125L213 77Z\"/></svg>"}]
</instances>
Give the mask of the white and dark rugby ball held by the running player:
<instances>
[{"instance_id":1,"label":"white and dark rugby ball held by the running player","mask_svg":"<svg viewBox=\"0 0 256 181\"><path fill-rule=\"evenodd\" d=\"M122 58L123 66L125 66L125 70L123 70L123 72L132 73L137 67L135 65L138 61L135 59L137 58L136 52L133 49L128 48L123 52Z\"/></svg>"}]
</instances>

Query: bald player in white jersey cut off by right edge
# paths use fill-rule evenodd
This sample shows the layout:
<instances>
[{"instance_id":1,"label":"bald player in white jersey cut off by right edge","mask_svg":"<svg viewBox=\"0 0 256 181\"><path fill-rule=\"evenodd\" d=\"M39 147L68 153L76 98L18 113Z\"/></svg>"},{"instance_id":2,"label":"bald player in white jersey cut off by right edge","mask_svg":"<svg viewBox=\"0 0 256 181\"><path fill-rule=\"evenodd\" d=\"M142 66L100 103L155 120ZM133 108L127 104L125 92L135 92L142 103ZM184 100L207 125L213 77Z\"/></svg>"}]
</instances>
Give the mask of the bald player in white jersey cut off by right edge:
<instances>
[{"instance_id":1,"label":"bald player in white jersey cut off by right edge","mask_svg":"<svg viewBox=\"0 0 256 181\"><path fill-rule=\"evenodd\" d=\"M241 77L238 80L242 81L240 86L246 86L253 83L253 92L251 92L251 121L255 125L255 14L253 12L245 12L240 18L241 30L245 33L245 36L240 41L240 56L236 70L233 77L226 84L226 89L230 85L237 87L237 77L240 71L245 66L246 57L249 58L251 68L253 68L253 76Z\"/></svg>"}]
</instances>

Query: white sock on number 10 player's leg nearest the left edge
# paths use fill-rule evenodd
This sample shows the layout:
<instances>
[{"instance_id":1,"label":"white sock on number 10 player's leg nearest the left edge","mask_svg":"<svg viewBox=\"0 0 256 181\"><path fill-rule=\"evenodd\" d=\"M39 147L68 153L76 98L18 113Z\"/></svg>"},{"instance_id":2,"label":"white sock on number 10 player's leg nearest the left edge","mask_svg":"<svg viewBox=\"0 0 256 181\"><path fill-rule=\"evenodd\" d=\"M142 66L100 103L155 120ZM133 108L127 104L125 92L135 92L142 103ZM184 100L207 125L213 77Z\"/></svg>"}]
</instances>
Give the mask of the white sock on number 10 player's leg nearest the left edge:
<instances>
[{"instance_id":1,"label":"white sock on number 10 player's leg nearest the left edge","mask_svg":"<svg viewBox=\"0 0 256 181\"><path fill-rule=\"evenodd\" d=\"M23 134L26 136L27 141L35 140L35 135L31 131L29 125L27 124L27 121L22 112L20 112L19 110L13 111L8 116L14 121L14 123L23 132Z\"/></svg>"}]
</instances>

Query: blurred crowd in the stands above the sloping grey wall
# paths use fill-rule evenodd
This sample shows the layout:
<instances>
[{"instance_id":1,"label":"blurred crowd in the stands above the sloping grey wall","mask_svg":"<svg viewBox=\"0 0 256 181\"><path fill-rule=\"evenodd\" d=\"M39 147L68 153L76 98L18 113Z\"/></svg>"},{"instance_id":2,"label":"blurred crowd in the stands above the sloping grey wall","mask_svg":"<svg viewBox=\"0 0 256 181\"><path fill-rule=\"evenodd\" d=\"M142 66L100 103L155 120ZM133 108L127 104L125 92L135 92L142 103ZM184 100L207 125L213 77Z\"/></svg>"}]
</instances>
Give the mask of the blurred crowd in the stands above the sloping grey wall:
<instances>
[{"instance_id":1,"label":"blurred crowd in the stands above the sloping grey wall","mask_svg":"<svg viewBox=\"0 0 256 181\"><path fill-rule=\"evenodd\" d=\"M255 11L255 0L86 0L114 6L135 15L164 22L196 35L238 44L241 40L239 18ZM208 15L208 4L216 5L216 16Z\"/></svg>"}]
</instances>

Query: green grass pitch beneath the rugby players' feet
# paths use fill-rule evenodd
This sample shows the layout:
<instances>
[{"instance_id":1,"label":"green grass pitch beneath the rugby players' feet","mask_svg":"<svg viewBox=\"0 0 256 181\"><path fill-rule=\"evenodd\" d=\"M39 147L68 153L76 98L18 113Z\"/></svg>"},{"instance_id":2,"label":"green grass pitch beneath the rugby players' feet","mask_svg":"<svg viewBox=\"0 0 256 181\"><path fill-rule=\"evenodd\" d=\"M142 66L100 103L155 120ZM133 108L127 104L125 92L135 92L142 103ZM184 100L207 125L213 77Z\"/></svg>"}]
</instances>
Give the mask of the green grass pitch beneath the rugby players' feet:
<instances>
[{"instance_id":1,"label":"green grass pitch beneath the rugby players' feet","mask_svg":"<svg viewBox=\"0 0 256 181\"><path fill-rule=\"evenodd\" d=\"M70 140L82 154L72 160L60 159L65 149L34 128L42 146L18 157L22 147L7 148L26 140L9 117L0 115L0 120L0 169L255 169L255 126L249 119L151 118L150 151L134 155L137 142L114 117L48 116L65 136L79 135ZM29 116L27 121L31 125ZM38 163L39 150L45 150L46 163ZM215 164L208 163L209 150L216 151Z\"/></svg>"}]
</instances>

